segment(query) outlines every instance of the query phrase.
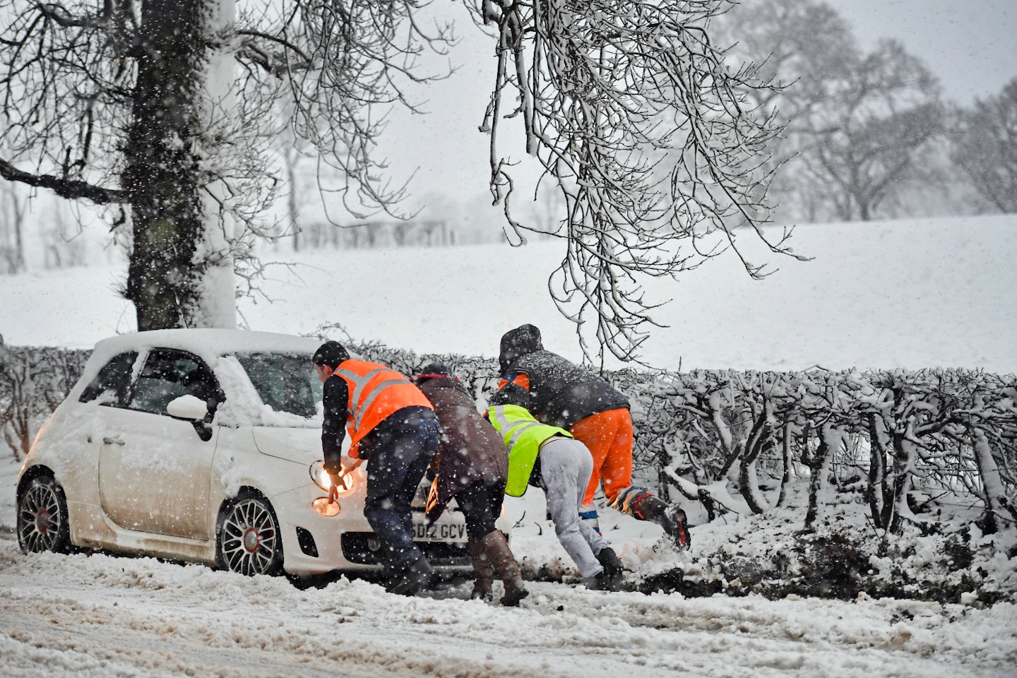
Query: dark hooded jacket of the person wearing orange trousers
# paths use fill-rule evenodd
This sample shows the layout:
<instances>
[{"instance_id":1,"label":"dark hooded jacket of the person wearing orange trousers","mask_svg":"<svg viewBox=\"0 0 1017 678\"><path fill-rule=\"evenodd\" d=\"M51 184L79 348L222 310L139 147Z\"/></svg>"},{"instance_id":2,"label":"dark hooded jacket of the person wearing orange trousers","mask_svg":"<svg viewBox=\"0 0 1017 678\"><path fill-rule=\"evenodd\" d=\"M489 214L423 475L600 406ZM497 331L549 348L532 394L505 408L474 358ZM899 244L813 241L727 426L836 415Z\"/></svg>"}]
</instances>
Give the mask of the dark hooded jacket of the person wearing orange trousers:
<instances>
[{"instance_id":1,"label":"dark hooded jacket of the person wearing orange trousers","mask_svg":"<svg viewBox=\"0 0 1017 678\"><path fill-rule=\"evenodd\" d=\"M505 383L490 405L519 405L544 424L569 429L591 415L630 407L629 398L596 374L544 351L533 325L505 332L498 361ZM529 388L516 382L520 375Z\"/></svg>"}]
</instances>

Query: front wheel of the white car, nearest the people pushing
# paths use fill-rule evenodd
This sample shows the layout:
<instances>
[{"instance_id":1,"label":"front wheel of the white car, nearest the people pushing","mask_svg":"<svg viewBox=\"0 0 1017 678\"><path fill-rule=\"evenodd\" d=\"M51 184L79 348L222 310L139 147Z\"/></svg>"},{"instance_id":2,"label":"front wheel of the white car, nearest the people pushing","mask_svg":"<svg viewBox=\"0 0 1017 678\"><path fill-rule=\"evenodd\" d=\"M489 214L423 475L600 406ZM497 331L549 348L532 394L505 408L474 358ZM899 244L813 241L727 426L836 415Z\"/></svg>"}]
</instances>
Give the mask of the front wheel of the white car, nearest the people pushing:
<instances>
[{"instance_id":1,"label":"front wheel of the white car, nearest the people pushing","mask_svg":"<svg viewBox=\"0 0 1017 678\"><path fill-rule=\"evenodd\" d=\"M223 569L246 576L282 571L279 518L261 496L242 492L227 502L220 511L216 535L216 554Z\"/></svg>"}]
</instances>

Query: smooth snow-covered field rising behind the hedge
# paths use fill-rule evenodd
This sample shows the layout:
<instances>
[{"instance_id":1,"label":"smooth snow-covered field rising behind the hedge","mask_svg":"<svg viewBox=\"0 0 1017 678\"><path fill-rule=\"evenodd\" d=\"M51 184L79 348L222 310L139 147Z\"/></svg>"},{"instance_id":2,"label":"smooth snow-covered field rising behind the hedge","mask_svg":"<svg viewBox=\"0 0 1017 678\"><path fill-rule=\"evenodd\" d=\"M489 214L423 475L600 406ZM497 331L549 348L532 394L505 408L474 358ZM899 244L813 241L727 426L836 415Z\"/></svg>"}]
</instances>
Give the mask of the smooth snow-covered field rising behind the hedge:
<instances>
[{"instance_id":1,"label":"smooth snow-covered field rising behind the hedge","mask_svg":"<svg viewBox=\"0 0 1017 678\"><path fill-rule=\"evenodd\" d=\"M776 269L764 281L729 256L679 282L648 281L648 299L673 301L655 312L668 327L654 330L644 358L673 369L1017 372L1017 215L802 226L792 244L813 260L747 247L751 261ZM356 340L488 357L505 330L532 322L546 348L578 358L575 327L547 296L560 259L548 241L289 255L295 267L268 270L272 301L241 300L241 320L296 334L339 323ZM114 292L125 270L0 276L0 334L15 346L91 348L131 331L133 311Z\"/></svg>"}]
</instances>

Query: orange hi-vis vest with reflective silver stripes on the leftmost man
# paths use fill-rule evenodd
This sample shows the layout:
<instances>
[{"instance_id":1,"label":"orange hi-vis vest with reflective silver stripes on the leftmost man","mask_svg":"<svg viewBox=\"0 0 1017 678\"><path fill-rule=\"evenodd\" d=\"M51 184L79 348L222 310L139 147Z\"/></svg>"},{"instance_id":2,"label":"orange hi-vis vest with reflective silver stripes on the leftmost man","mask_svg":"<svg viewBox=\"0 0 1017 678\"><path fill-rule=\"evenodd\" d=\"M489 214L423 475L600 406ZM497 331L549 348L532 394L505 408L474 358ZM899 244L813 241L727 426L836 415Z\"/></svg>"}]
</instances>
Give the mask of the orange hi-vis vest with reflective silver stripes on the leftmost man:
<instances>
[{"instance_id":1,"label":"orange hi-vis vest with reflective silver stripes on the leftmost man","mask_svg":"<svg viewBox=\"0 0 1017 678\"><path fill-rule=\"evenodd\" d=\"M420 406L433 410L427 396L396 370L366 360L345 360L333 375L346 380L350 389L346 430L350 433L350 456L359 456L358 444L371 429L398 410Z\"/></svg>"}]
</instances>

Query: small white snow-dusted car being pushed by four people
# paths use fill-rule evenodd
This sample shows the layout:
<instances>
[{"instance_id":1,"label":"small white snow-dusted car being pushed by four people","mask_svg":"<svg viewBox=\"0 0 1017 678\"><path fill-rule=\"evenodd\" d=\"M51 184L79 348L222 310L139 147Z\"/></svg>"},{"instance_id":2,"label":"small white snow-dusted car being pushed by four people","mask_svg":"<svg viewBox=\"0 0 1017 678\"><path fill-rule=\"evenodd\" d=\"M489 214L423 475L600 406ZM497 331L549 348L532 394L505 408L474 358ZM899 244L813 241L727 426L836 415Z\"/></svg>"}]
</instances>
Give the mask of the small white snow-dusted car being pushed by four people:
<instances>
[{"instance_id":1,"label":"small white snow-dusted car being pushed by four people","mask_svg":"<svg viewBox=\"0 0 1017 678\"><path fill-rule=\"evenodd\" d=\"M168 329L104 340L40 430L17 482L21 550L72 548L244 574L380 570L365 465L337 502L321 473L316 338ZM415 541L439 573L471 569L450 506ZM508 531L502 514L499 528Z\"/></svg>"}]
</instances>

